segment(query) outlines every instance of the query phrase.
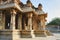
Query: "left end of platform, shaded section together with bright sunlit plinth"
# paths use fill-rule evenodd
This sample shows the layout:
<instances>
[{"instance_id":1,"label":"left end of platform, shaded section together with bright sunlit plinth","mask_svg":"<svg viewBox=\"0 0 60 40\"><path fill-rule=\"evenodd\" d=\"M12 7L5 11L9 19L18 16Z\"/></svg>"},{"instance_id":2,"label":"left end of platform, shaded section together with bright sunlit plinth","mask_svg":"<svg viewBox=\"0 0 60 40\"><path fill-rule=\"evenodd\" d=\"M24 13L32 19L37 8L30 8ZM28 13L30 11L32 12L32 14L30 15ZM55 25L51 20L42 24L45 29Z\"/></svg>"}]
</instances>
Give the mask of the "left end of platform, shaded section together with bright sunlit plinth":
<instances>
[{"instance_id":1,"label":"left end of platform, shaded section together with bright sunlit plinth","mask_svg":"<svg viewBox=\"0 0 60 40\"><path fill-rule=\"evenodd\" d=\"M0 40L20 40L19 30L0 30Z\"/></svg>"}]
</instances>

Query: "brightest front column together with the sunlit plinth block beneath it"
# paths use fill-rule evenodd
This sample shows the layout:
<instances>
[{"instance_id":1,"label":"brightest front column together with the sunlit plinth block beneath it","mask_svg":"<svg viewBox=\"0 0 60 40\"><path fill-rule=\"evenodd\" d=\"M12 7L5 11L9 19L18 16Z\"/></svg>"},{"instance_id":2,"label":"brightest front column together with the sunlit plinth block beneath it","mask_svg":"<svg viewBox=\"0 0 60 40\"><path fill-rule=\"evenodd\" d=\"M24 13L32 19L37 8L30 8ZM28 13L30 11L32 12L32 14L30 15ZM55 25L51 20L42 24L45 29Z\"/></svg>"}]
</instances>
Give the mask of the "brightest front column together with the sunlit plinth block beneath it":
<instances>
[{"instance_id":1,"label":"brightest front column together with the sunlit plinth block beneath it","mask_svg":"<svg viewBox=\"0 0 60 40\"><path fill-rule=\"evenodd\" d=\"M11 10L11 30L12 30L12 40L19 40L19 30L15 30L15 17L16 11L14 9Z\"/></svg>"}]
</instances>

